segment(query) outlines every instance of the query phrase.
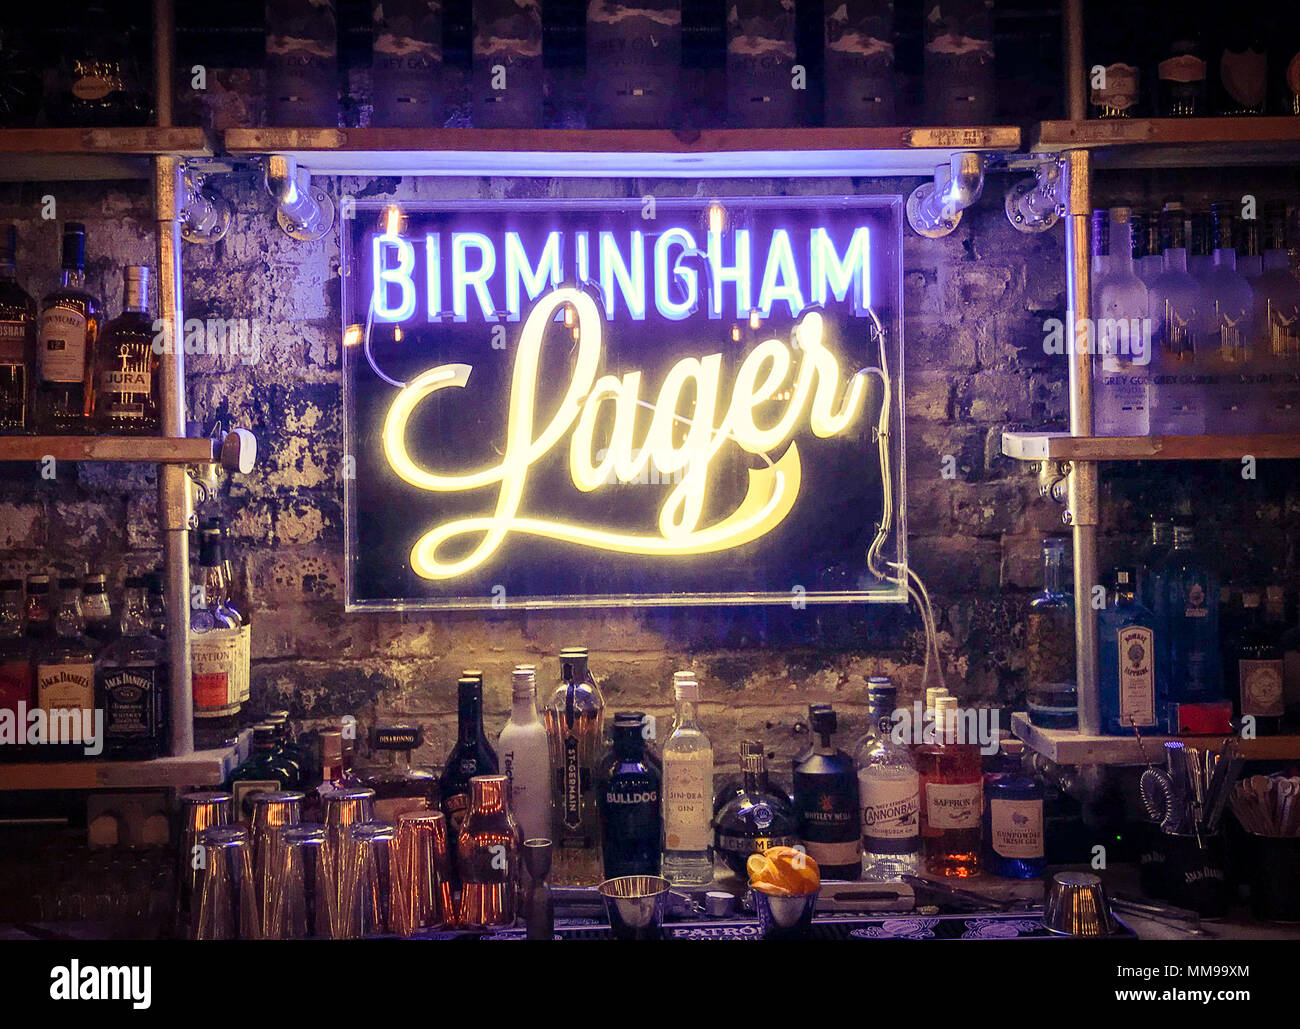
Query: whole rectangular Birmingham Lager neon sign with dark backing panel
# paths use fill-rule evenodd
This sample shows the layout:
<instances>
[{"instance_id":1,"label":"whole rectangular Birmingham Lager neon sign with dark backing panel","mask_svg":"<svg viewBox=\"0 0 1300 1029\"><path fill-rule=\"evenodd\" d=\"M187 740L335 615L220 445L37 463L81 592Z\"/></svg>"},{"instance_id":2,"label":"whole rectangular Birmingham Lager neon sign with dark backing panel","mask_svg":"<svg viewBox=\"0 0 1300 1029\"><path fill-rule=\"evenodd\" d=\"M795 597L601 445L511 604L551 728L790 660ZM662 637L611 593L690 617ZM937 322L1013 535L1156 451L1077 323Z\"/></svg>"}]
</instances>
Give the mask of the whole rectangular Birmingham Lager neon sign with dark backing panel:
<instances>
[{"instance_id":1,"label":"whole rectangular Birmingham Lager neon sign with dark backing panel","mask_svg":"<svg viewBox=\"0 0 1300 1029\"><path fill-rule=\"evenodd\" d=\"M638 208L358 204L351 608L905 599L897 200Z\"/></svg>"}]
</instances>

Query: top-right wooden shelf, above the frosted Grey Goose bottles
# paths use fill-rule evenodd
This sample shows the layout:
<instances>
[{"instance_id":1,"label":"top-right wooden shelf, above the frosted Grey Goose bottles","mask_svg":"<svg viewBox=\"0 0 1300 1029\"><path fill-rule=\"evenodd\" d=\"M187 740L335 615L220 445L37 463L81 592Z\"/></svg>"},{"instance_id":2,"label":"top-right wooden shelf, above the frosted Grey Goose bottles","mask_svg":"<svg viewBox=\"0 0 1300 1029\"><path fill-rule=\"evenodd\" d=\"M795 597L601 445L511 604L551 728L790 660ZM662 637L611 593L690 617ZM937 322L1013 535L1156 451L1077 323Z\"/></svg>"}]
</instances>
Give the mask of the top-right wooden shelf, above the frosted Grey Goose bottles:
<instances>
[{"instance_id":1,"label":"top-right wooden shelf, above the frosted Grey Goose bottles","mask_svg":"<svg viewBox=\"0 0 1300 1029\"><path fill-rule=\"evenodd\" d=\"M1218 168L1300 160L1300 117L1045 121L1031 151L1092 149L1101 168Z\"/></svg>"}]
</instances>

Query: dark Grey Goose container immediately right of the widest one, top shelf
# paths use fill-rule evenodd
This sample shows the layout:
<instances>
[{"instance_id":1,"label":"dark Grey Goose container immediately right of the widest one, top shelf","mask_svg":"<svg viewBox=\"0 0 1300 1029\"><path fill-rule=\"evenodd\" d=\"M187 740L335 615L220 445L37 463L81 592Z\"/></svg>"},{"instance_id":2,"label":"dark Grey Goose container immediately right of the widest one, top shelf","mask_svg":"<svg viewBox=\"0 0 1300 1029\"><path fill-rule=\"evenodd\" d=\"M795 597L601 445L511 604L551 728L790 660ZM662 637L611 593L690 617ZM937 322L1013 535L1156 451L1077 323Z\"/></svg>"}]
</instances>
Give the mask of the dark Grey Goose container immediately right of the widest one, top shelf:
<instances>
[{"instance_id":1,"label":"dark Grey Goose container immediately right of the widest one, top shelf","mask_svg":"<svg viewBox=\"0 0 1300 1029\"><path fill-rule=\"evenodd\" d=\"M728 4L731 123L745 129L793 127L800 121L800 95L794 88L794 4Z\"/></svg>"}]
</instances>

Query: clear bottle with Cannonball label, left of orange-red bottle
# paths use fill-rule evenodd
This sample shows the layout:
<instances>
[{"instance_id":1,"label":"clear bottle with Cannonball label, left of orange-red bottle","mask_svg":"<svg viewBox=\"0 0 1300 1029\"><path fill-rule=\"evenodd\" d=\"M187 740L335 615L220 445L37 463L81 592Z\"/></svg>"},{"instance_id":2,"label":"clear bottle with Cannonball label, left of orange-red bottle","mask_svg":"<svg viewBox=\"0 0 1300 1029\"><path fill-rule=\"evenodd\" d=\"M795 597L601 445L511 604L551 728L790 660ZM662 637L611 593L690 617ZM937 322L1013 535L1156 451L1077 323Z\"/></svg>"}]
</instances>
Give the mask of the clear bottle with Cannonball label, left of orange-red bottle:
<instances>
[{"instance_id":1,"label":"clear bottle with Cannonball label, left of orange-red bottle","mask_svg":"<svg viewBox=\"0 0 1300 1029\"><path fill-rule=\"evenodd\" d=\"M862 804L862 878L892 882L920 870L920 780L911 752L893 739L898 687L888 678L867 680L871 729L858 743L858 798Z\"/></svg>"}]
</instances>

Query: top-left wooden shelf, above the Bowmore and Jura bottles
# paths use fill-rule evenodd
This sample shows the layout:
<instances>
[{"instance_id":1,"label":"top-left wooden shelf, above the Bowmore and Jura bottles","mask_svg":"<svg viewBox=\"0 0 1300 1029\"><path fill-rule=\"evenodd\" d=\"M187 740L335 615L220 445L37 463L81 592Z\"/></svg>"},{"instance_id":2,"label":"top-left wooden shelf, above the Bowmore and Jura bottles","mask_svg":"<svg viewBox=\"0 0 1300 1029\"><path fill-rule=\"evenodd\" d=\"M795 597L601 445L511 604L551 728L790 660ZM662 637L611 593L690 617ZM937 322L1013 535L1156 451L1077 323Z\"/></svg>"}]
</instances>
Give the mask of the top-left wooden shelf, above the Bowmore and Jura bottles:
<instances>
[{"instance_id":1,"label":"top-left wooden shelf, above the Bowmore and Jura bottles","mask_svg":"<svg viewBox=\"0 0 1300 1029\"><path fill-rule=\"evenodd\" d=\"M203 129L0 129L0 181L148 178L150 157L211 157Z\"/></svg>"}]
</instances>

